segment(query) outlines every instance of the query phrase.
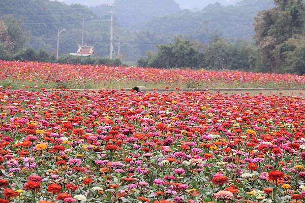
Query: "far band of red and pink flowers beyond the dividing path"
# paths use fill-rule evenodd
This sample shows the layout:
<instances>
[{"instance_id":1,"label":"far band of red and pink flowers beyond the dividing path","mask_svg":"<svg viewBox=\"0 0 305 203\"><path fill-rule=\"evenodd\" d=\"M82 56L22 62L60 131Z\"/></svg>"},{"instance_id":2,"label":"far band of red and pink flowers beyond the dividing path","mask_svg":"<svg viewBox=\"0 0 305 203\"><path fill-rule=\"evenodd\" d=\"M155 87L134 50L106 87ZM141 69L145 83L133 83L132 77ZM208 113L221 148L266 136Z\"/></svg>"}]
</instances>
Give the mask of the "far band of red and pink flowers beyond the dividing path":
<instances>
[{"instance_id":1,"label":"far band of red and pink flowers beyond the dividing path","mask_svg":"<svg viewBox=\"0 0 305 203\"><path fill-rule=\"evenodd\" d=\"M135 85L151 89L305 87L305 76L0 60L0 86L3 87L121 89Z\"/></svg>"}]
</instances>

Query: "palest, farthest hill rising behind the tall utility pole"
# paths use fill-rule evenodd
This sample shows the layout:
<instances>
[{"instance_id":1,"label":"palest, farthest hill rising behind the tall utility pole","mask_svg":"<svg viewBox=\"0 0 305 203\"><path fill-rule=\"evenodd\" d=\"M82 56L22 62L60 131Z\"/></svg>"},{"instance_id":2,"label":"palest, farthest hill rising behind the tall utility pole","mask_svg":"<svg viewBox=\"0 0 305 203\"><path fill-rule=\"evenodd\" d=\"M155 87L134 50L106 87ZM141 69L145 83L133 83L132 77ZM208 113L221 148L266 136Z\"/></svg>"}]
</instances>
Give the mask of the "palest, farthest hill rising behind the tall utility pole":
<instances>
[{"instance_id":1,"label":"palest, farthest hill rising behind the tall utility pole","mask_svg":"<svg viewBox=\"0 0 305 203\"><path fill-rule=\"evenodd\" d=\"M130 29L142 29L155 17L177 13L179 5L174 0L115 0L115 18L117 23ZM110 6L103 4L91 9L97 16L108 16Z\"/></svg>"}]
</instances>

